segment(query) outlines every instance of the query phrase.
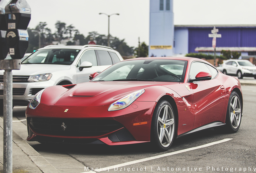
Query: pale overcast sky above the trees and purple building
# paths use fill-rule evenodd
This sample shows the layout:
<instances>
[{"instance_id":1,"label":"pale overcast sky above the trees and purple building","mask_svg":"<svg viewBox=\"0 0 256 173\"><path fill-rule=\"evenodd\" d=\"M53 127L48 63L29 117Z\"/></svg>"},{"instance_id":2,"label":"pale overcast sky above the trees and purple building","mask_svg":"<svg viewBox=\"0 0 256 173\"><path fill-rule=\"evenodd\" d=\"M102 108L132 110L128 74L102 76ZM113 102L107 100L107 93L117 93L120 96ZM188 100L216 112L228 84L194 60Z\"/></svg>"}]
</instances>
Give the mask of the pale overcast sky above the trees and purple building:
<instances>
[{"instance_id":1,"label":"pale overcast sky above the trees and purple building","mask_svg":"<svg viewBox=\"0 0 256 173\"><path fill-rule=\"evenodd\" d=\"M27 0L31 7L29 28L46 22L56 32L60 20L72 24L81 34L96 31L107 35L107 16L110 34L125 39L128 46L140 42L149 44L149 0ZM174 24L255 24L256 0L173 0Z\"/></svg>"}]
</instances>

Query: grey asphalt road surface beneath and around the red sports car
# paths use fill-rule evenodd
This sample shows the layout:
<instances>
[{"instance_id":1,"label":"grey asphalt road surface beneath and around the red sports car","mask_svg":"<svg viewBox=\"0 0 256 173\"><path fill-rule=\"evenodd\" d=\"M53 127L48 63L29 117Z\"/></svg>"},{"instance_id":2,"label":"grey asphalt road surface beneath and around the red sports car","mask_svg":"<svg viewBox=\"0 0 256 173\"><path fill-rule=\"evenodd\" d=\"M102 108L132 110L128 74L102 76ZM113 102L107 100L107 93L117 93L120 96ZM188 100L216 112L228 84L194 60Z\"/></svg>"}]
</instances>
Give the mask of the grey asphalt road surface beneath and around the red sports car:
<instances>
[{"instance_id":1,"label":"grey asphalt road surface beneath and around the red sports car","mask_svg":"<svg viewBox=\"0 0 256 173\"><path fill-rule=\"evenodd\" d=\"M244 110L237 133L201 131L176 139L166 152L155 152L147 143L123 146L29 144L63 173L91 170L109 173L256 172L256 86L242 86L242 91ZM25 109L15 107L13 117L25 119ZM14 131L17 128L14 125ZM22 130L18 134L25 139L27 132Z\"/></svg>"}]
</instances>

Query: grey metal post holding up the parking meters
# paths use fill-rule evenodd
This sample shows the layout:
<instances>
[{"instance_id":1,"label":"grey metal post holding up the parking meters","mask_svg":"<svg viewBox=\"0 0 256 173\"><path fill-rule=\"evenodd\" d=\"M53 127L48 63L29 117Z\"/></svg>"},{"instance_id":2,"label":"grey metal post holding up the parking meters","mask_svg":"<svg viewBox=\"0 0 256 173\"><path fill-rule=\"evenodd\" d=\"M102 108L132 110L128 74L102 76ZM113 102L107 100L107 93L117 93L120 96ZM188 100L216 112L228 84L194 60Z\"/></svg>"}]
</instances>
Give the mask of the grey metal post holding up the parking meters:
<instances>
[{"instance_id":1,"label":"grey metal post holding up the parking meters","mask_svg":"<svg viewBox=\"0 0 256 173\"><path fill-rule=\"evenodd\" d=\"M4 173L12 173L12 70L4 71Z\"/></svg>"}]
</instances>

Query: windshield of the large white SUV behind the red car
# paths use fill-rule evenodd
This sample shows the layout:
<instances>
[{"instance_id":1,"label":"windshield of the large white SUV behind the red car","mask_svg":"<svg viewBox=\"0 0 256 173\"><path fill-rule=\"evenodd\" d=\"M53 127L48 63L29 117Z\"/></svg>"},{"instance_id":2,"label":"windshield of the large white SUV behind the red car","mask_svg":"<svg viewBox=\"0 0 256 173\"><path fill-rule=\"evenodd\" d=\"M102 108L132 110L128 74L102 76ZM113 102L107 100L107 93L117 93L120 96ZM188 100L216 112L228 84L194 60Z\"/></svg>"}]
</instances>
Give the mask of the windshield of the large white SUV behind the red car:
<instances>
[{"instance_id":1,"label":"windshield of the large white SUV behind the red car","mask_svg":"<svg viewBox=\"0 0 256 173\"><path fill-rule=\"evenodd\" d=\"M37 50L25 59L22 64L64 64L70 65L80 50L77 49L44 49Z\"/></svg>"}]
</instances>

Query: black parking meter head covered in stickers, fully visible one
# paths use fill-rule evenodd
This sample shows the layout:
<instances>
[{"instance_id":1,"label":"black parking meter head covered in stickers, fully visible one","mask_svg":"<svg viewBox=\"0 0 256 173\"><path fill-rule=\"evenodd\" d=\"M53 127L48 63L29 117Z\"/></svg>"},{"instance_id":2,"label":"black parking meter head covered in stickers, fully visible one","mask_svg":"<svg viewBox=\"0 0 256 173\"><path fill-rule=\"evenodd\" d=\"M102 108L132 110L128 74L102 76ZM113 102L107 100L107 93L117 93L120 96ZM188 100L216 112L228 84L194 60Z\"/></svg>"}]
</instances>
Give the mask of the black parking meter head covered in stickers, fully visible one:
<instances>
[{"instance_id":1,"label":"black parking meter head covered in stickers, fully visible one","mask_svg":"<svg viewBox=\"0 0 256 173\"><path fill-rule=\"evenodd\" d=\"M7 25L6 44L12 59L21 59L29 46L27 26L31 19L31 8L26 0L11 0L5 7Z\"/></svg>"}]
</instances>

